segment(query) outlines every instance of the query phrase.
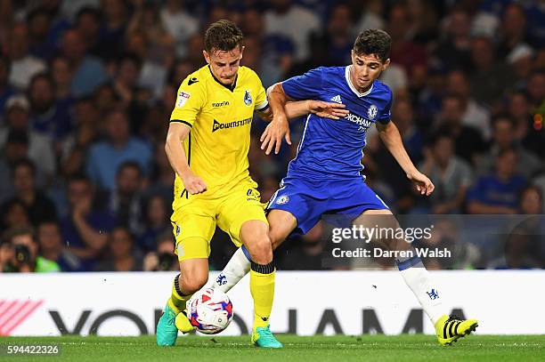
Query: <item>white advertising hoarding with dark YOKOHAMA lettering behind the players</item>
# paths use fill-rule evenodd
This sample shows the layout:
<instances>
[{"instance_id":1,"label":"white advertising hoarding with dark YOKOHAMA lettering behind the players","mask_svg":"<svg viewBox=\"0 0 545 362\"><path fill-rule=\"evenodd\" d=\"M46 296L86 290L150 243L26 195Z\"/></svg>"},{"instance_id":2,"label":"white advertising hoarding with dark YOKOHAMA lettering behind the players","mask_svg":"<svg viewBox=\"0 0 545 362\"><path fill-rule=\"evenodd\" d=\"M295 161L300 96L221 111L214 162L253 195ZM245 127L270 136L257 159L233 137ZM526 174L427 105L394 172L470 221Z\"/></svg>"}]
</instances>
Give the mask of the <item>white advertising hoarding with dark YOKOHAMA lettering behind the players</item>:
<instances>
[{"instance_id":1,"label":"white advertising hoarding with dark YOKOHAMA lettering behind the players","mask_svg":"<svg viewBox=\"0 0 545 362\"><path fill-rule=\"evenodd\" d=\"M435 271L448 311L479 320L479 334L545 333L545 270ZM215 278L212 273L210 278ZM154 334L173 272L0 275L0 335ZM248 277L235 286L235 320L248 333ZM278 272L273 332L433 334L397 271Z\"/></svg>"}]
</instances>

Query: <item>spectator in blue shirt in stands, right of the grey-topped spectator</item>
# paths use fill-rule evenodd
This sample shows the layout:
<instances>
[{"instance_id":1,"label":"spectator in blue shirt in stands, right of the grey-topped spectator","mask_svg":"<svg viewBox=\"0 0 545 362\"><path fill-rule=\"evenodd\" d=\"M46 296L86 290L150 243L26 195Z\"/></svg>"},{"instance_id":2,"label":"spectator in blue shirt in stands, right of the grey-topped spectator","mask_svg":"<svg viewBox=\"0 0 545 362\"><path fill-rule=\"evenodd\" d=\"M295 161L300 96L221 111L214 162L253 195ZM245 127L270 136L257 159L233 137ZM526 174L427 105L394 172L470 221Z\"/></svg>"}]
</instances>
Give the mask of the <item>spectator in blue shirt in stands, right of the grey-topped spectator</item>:
<instances>
[{"instance_id":1,"label":"spectator in blue shirt in stands, right of the grey-topped spectator","mask_svg":"<svg viewBox=\"0 0 545 362\"><path fill-rule=\"evenodd\" d=\"M495 162L495 172L480 177L468 192L469 213L517 213L518 195L526 180L515 173L517 153L502 149Z\"/></svg>"}]
</instances>

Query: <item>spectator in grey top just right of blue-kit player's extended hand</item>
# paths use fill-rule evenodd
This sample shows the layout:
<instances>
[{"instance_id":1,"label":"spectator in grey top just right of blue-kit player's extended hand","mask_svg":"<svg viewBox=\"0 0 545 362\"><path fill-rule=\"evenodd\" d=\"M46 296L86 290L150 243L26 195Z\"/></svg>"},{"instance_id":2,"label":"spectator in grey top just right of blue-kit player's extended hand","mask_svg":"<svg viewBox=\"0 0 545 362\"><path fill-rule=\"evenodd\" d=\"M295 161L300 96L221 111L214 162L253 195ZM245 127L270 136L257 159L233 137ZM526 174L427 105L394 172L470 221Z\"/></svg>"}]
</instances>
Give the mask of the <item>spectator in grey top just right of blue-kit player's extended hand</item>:
<instances>
[{"instance_id":1,"label":"spectator in grey top just right of blue-kit player's extended hand","mask_svg":"<svg viewBox=\"0 0 545 362\"><path fill-rule=\"evenodd\" d=\"M419 167L435 190L429 197L431 213L461 213L471 185L471 167L454 155L454 142L448 134L438 134Z\"/></svg>"}]
</instances>

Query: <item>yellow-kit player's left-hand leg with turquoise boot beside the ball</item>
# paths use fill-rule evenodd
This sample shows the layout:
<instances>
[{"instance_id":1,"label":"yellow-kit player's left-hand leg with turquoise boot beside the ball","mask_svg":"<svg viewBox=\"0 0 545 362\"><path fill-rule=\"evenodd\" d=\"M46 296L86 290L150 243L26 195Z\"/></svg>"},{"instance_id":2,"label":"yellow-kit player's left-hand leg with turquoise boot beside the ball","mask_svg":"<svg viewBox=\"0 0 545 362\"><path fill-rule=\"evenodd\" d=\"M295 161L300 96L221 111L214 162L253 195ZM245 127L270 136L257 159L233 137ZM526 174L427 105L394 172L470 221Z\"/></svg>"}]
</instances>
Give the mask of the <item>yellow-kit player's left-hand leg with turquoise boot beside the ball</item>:
<instances>
[{"instance_id":1,"label":"yellow-kit player's left-hand leg with turquoise boot beside the ball","mask_svg":"<svg viewBox=\"0 0 545 362\"><path fill-rule=\"evenodd\" d=\"M188 213L190 210L191 213ZM216 221L211 216L205 216L203 210L194 203L191 209L176 210L171 218L180 274L173 281L170 297L157 325L157 343L161 346L174 345L178 329L191 331L189 319L183 313L185 303L207 282L209 243L216 229Z\"/></svg>"}]
</instances>

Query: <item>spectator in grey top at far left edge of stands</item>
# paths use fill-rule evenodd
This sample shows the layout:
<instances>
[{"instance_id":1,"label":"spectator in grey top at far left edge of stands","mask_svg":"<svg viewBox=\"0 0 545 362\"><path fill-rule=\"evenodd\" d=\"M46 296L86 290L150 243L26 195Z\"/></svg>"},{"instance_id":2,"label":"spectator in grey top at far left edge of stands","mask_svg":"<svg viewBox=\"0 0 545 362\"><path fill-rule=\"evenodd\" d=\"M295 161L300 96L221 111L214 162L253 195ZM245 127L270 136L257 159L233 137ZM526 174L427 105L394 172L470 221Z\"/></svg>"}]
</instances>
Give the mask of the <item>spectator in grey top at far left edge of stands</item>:
<instances>
[{"instance_id":1,"label":"spectator in grey top at far left edge of stands","mask_svg":"<svg viewBox=\"0 0 545 362\"><path fill-rule=\"evenodd\" d=\"M40 173L47 178L53 177L55 157L53 141L50 137L37 133L28 124L28 100L20 95L10 98L5 104L5 119L7 126L0 129L0 148L4 147L8 134L11 132L25 133L28 140L28 158L37 165Z\"/></svg>"}]
</instances>

